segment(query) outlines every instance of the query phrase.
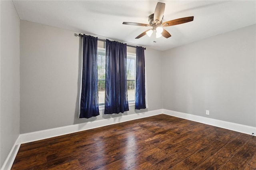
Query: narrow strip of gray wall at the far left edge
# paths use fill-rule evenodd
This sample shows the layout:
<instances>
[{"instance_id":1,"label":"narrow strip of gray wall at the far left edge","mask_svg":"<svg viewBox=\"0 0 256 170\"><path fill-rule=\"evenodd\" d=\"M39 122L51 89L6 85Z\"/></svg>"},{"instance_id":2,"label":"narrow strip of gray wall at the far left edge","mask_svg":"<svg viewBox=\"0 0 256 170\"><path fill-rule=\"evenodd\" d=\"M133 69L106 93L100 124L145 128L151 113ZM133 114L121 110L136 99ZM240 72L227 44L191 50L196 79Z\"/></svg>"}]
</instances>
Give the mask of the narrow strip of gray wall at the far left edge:
<instances>
[{"instance_id":1,"label":"narrow strip of gray wall at the far left edge","mask_svg":"<svg viewBox=\"0 0 256 170\"><path fill-rule=\"evenodd\" d=\"M20 18L12 1L0 1L0 167L20 134Z\"/></svg>"}]
</instances>

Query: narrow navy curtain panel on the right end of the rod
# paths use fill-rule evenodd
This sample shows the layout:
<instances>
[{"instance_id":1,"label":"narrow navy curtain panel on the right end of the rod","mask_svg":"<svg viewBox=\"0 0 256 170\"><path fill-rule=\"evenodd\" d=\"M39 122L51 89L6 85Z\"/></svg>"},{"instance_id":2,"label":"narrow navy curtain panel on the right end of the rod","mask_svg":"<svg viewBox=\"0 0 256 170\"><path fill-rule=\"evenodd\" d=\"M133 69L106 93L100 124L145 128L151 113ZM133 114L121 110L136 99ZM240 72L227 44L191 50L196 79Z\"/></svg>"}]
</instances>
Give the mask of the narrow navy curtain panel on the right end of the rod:
<instances>
[{"instance_id":1,"label":"narrow navy curtain panel on the right end of the rod","mask_svg":"<svg viewBox=\"0 0 256 170\"><path fill-rule=\"evenodd\" d=\"M136 94L135 109L146 109L144 48L136 47Z\"/></svg>"}]
</instances>

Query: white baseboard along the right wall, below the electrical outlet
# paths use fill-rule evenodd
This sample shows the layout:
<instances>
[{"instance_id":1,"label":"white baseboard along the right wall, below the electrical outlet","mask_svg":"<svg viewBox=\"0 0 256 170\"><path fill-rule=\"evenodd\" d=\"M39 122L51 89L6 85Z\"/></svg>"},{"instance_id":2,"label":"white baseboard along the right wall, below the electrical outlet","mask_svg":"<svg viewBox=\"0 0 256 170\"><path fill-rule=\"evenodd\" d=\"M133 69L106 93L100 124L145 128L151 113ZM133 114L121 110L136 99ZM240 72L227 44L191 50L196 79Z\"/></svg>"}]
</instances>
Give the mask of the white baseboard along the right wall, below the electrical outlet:
<instances>
[{"instance_id":1,"label":"white baseboard along the right wall, below the electrical outlet","mask_svg":"<svg viewBox=\"0 0 256 170\"><path fill-rule=\"evenodd\" d=\"M212 126L215 126L215 127L220 127L220 128L225 128L225 129L228 129L228 130L233 130L233 131L236 131L236 132L241 132L241 133L245 133L245 134L254 133L254 135L256 134L256 127L250 127L250 126L241 125L241 124L238 124L238 123L220 121L220 120L217 120L217 119L211 119L211 118L207 118L207 117L191 115L191 114L188 114L188 113L170 111L170 110L166 110L166 109L162 109L162 113L164 113L166 115L174 116L174 117L179 117L179 118L182 118L182 119L187 119L187 120L190 120L190 121L204 123L206 125L212 125Z\"/></svg>"}]
</instances>

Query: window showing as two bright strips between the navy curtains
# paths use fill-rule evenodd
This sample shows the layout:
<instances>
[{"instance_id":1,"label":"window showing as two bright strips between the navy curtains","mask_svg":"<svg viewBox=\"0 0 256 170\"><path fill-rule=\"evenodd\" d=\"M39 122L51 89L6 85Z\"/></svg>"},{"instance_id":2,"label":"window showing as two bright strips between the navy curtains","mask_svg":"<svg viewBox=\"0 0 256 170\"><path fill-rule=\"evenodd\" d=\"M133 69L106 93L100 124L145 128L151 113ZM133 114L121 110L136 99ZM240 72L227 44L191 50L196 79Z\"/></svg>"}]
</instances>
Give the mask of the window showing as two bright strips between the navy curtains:
<instances>
[{"instance_id":1,"label":"window showing as two bright strips between the navy curtains","mask_svg":"<svg viewBox=\"0 0 256 170\"><path fill-rule=\"evenodd\" d=\"M105 103L105 71L106 71L106 49L105 42L98 41L98 97L99 106ZM127 76L127 93L128 102L135 102L135 75L136 75L136 48L127 47L127 63L126 63L126 76Z\"/></svg>"}]
</instances>

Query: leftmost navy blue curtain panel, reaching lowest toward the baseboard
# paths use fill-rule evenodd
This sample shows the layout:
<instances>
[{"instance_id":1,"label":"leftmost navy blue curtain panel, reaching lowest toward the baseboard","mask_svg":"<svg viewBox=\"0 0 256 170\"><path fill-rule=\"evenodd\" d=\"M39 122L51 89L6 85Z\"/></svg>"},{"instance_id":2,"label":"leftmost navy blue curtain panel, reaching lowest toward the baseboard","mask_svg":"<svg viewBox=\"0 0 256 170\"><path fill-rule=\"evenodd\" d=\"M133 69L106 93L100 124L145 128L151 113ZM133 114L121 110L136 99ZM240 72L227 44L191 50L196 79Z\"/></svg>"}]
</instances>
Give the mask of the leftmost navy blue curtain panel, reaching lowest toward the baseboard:
<instances>
[{"instance_id":1,"label":"leftmost navy blue curtain panel, reaching lowest toward the baseboard","mask_svg":"<svg viewBox=\"0 0 256 170\"><path fill-rule=\"evenodd\" d=\"M100 115L98 105L98 68L97 40L92 36L82 36L83 65L82 91L79 118L90 118Z\"/></svg>"}]
</instances>

